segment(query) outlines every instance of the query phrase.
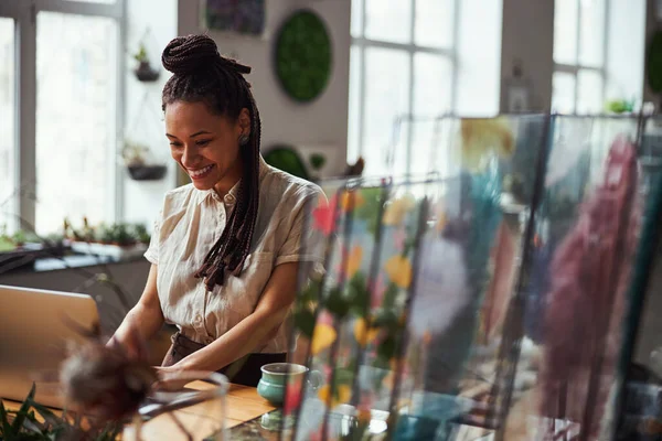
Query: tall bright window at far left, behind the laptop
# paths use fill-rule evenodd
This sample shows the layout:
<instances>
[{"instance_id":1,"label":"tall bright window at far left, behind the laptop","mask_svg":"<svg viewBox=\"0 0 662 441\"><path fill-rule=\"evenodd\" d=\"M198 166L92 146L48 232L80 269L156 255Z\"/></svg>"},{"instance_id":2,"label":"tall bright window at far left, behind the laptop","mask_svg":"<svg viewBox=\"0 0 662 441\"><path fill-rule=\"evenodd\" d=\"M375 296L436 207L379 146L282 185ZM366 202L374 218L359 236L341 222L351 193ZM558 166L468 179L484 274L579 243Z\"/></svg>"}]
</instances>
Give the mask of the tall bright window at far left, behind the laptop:
<instances>
[{"instance_id":1,"label":"tall bright window at far left, behind the laptop","mask_svg":"<svg viewBox=\"0 0 662 441\"><path fill-rule=\"evenodd\" d=\"M0 80L0 111L18 115L0 118L0 189L11 207L0 223L10 229L20 225L12 218L39 234L58 232L65 217L115 220L124 1L0 2L0 79L18 74L9 99Z\"/></svg>"}]
</instances>

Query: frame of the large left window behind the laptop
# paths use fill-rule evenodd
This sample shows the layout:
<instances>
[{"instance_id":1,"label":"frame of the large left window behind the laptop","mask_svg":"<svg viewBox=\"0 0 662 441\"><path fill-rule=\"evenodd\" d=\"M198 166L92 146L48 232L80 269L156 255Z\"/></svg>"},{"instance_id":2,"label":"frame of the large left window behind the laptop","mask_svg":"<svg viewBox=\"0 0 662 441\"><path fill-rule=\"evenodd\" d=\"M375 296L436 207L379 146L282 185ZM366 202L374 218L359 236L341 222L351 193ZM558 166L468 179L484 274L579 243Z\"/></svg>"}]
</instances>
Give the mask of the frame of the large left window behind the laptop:
<instances>
[{"instance_id":1,"label":"frame of the large left window behind the laptop","mask_svg":"<svg viewBox=\"0 0 662 441\"><path fill-rule=\"evenodd\" d=\"M117 105L116 144L107 158L114 164L113 206L107 207L109 219L120 219L122 203L121 170L117 158L117 141L124 132L126 0L114 3L92 3L75 0L0 1L0 18L14 20L15 89L14 89L14 189L18 193L13 212L29 225L35 225L36 195L36 15L40 12L61 12L76 15L113 19L117 23ZM14 224L15 225L15 224ZM18 225L18 227L21 227ZM42 232L39 232L42 233Z\"/></svg>"}]
</instances>

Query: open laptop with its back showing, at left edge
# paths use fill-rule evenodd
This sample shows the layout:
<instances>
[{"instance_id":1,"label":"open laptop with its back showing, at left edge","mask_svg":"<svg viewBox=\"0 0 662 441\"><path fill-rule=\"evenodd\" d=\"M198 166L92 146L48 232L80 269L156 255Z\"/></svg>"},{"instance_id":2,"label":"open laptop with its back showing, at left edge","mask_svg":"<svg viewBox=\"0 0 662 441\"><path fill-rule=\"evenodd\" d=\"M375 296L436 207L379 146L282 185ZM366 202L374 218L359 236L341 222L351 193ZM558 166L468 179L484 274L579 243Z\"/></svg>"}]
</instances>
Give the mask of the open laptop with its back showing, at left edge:
<instances>
[{"instance_id":1,"label":"open laptop with its back showing, at left edge","mask_svg":"<svg viewBox=\"0 0 662 441\"><path fill-rule=\"evenodd\" d=\"M0 397L22 401L34 383L36 402L62 408L53 381L67 342L85 341L76 325L93 330L98 323L89 295L0 284Z\"/></svg>"}]
</instances>

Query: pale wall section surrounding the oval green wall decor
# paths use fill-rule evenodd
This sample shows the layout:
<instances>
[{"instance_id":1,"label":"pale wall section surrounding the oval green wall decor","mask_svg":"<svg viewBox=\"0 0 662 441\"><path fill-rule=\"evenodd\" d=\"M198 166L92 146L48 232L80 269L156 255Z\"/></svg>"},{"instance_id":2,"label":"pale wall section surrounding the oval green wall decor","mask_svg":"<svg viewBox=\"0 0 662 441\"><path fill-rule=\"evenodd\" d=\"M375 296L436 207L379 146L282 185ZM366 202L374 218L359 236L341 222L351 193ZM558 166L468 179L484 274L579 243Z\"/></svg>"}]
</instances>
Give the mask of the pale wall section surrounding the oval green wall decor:
<instances>
[{"instance_id":1,"label":"pale wall section surrounding the oval green wall decor","mask_svg":"<svg viewBox=\"0 0 662 441\"><path fill-rule=\"evenodd\" d=\"M350 0L268 0L266 35L228 36L210 31L221 53L232 55L253 67L247 76L263 122L263 150L275 143L295 146L333 146L346 152L348 99L350 72ZM333 43L333 71L323 94L311 104L297 104L287 97L274 75L271 57L278 26L299 8L319 13ZM179 0L180 35L200 33L199 2Z\"/></svg>"}]
</instances>

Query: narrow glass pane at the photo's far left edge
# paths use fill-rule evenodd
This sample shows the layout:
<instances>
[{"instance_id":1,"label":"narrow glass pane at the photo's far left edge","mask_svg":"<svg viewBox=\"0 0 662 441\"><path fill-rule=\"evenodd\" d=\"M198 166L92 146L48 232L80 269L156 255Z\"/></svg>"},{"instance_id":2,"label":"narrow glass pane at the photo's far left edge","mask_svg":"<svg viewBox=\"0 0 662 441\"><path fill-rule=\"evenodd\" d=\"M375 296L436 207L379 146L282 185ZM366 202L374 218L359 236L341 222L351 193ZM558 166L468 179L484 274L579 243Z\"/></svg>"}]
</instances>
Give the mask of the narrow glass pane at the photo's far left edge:
<instances>
[{"instance_id":1,"label":"narrow glass pane at the photo's far left edge","mask_svg":"<svg viewBox=\"0 0 662 441\"><path fill-rule=\"evenodd\" d=\"M0 18L0 232L17 225L14 22Z\"/></svg>"}]
</instances>

